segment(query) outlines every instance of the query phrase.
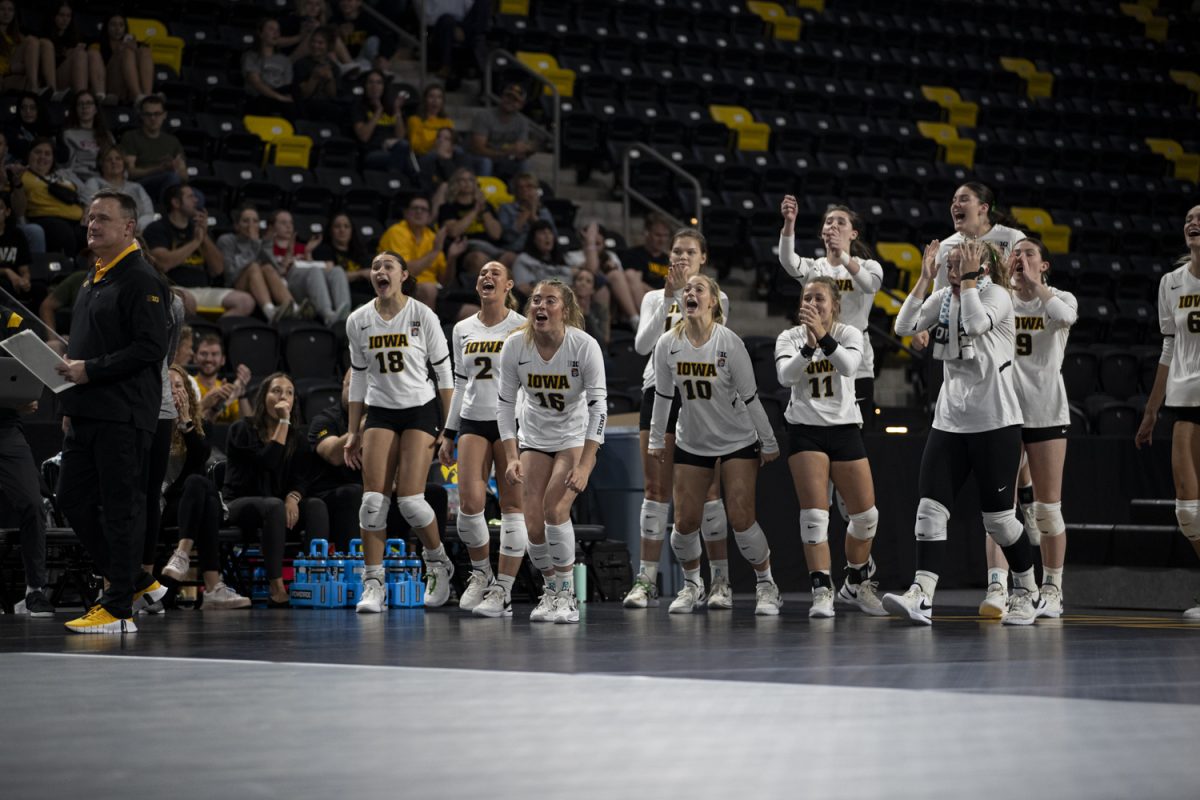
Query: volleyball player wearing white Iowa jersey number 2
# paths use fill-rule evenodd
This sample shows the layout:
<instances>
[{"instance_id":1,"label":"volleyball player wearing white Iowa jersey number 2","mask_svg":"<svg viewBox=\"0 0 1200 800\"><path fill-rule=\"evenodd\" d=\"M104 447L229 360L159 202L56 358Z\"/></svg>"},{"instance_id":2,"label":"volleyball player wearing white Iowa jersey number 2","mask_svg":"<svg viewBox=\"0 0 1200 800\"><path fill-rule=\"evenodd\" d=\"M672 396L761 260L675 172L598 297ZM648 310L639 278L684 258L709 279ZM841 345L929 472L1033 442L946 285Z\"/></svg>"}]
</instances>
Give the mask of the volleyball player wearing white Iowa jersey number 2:
<instances>
[{"instance_id":1,"label":"volleyball player wearing white Iowa jersey number 2","mask_svg":"<svg viewBox=\"0 0 1200 800\"><path fill-rule=\"evenodd\" d=\"M497 368L500 348L509 335L524 323L512 296L512 275L499 261L488 261L475 279L480 311L454 326L454 399L446 414L445 438L439 457L446 467L458 451L458 539L470 555L470 578L458 599L458 608L476 616L511 616L512 584L524 558L524 516L521 492L504 480L508 461L496 423ZM487 479L496 464L496 488L500 495L499 575L492 575L492 537L484 509Z\"/></svg>"}]
</instances>

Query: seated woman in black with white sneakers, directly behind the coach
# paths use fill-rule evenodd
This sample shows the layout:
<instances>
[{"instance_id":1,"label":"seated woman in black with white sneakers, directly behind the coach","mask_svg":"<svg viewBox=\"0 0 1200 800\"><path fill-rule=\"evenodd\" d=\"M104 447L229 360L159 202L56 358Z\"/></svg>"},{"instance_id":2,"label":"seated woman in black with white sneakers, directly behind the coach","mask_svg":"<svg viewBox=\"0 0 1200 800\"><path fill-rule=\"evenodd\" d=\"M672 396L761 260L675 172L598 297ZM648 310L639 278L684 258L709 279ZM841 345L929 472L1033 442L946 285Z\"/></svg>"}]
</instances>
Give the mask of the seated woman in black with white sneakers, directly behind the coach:
<instances>
[{"instance_id":1,"label":"seated woman in black with white sneakers, directly behind the coach","mask_svg":"<svg viewBox=\"0 0 1200 800\"><path fill-rule=\"evenodd\" d=\"M212 447L204 437L199 401L190 375L181 367L170 367L170 397L178 414L170 439L167 474L162 485L162 525L179 527L179 542L162 573L175 581L187 578L191 552L200 552L204 579L204 608L247 608L250 599L226 585L221 577L220 545L221 494L205 475Z\"/></svg>"}]
</instances>

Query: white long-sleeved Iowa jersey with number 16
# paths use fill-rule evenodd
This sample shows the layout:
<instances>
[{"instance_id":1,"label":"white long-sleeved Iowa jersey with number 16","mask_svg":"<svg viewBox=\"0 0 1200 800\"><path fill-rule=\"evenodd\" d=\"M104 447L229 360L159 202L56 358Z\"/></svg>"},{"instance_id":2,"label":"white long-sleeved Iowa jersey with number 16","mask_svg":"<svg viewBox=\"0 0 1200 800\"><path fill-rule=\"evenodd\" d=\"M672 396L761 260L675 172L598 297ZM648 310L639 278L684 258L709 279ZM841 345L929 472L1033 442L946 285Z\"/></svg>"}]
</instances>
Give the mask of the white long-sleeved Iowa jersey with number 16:
<instances>
[{"instance_id":1,"label":"white long-sleeved Iowa jersey with number 16","mask_svg":"<svg viewBox=\"0 0 1200 800\"><path fill-rule=\"evenodd\" d=\"M526 395L520 434L518 391ZM568 327L547 361L523 331L512 333L500 349L497 410L500 439L516 437L522 449L553 453L581 447L586 439L604 444L608 393L600 344L578 327Z\"/></svg>"}]
</instances>

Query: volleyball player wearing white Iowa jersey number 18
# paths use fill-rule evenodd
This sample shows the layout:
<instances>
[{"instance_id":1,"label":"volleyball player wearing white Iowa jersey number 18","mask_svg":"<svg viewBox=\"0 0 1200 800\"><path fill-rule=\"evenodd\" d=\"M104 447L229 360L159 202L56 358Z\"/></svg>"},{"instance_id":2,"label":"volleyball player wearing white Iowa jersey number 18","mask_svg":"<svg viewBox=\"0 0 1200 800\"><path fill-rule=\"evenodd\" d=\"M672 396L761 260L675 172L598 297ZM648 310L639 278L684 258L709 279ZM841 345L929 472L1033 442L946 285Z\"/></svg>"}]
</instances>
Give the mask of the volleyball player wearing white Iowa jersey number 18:
<instances>
[{"instance_id":1,"label":"volleyball player wearing white Iowa jersey number 18","mask_svg":"<svg viewBox=\"0 0 1200 800\"><path fill-rule=\"evenodd\" d=\"M413 299L415 287L404 259L383 251L371 261L376 299L346 320L350 343L349 439L346 464L362 469L362 597L356 610L379 613L388 606L383 551L388 537L388 495L421 540L425 551L425 604L450 595L454 565L425 500L425 479L439 437L443 407L450 405L450 351L433 311ZM437 379L430 381L428 367ZM364 421L365 415L365 421Z\"/></svg>"}]
</instances>

